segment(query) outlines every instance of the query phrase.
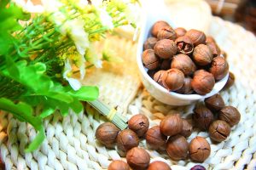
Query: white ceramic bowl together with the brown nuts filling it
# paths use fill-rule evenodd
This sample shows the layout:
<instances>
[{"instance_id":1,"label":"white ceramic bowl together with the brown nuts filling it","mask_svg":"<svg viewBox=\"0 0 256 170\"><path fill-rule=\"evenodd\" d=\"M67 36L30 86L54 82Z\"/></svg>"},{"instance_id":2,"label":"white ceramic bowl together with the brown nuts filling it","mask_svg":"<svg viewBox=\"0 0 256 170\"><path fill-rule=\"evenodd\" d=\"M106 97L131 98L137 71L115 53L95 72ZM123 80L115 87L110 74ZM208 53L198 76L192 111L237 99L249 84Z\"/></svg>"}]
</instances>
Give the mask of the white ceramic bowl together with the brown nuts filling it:
<instances>
[{"instance_id":1,"label":"white ceramic bowl together with the brown nuts filling it","mask_svg":"<svg viewBox=\"0 0 256 170\"><path fill-rule=\"evenodd\" d=\"M141 29L137 47L137 65L143 85L149 94L167 105L190 105L199 99L217 94L224 88L229 77L226 60L219 55L214 55L212 46L207 46L207 36L202 31L174 29L172 23L170 26L166 26L166 23L171 22L162 15L146 16ZM166 32L169 35L175 33L176 30L182 30L183 37L172 35L170 38L164 37L168 39L163 39L163 37L154 36L157 31ZM196 37L197 35L199 36ZM148 43L149 37L151 39L152 37L157 38L157 42L154 42L154 47L150 46L150 50L143 48L147 46L145 43ZM177 38L178 41L176 41ZM214 45L218 48L217 43ZM143 54L145 50L150 51L150 56L145 56L146 52ZM225 68L221 67L218 71L216 71L218 69L216 65L212 68L212 62L217 60L215 58L223 59L222 62L225 62L223 67ZM166 60L171 64L169 67L168 65L165 66L166 69L163 70L161 63ZM221 74L222 71L223 75ZM217 73L220 75L218 78Z\"/></svg>"}]
</instances>

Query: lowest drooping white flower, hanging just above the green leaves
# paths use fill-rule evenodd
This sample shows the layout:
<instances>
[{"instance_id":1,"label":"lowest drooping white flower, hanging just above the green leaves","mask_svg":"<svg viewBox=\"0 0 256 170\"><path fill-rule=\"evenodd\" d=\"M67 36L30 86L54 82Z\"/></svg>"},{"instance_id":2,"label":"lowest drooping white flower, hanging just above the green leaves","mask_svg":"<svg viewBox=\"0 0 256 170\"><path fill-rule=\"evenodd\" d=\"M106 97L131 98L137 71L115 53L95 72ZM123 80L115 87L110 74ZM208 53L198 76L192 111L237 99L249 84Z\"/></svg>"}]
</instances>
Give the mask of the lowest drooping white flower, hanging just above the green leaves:
<instances>
[{"instance_id":1,"label":"lowest drooping white flower, hanging just above the green leaves","mask_svg":"<svg viewBox=\"0 0 256 170\"><path fill-rule=\"evenodd\" d=\"M81 82L79 82L79 80L68 76L68 74L71 71L72 71L72 67L70 65L69 59L67 59L66 62L65 62L63 77L67 80L67 82L69 83L71 88L73 88L74 90L79 90L79 88L82 87L82 84L81 84Z\"/></svg>"}]
</instances>

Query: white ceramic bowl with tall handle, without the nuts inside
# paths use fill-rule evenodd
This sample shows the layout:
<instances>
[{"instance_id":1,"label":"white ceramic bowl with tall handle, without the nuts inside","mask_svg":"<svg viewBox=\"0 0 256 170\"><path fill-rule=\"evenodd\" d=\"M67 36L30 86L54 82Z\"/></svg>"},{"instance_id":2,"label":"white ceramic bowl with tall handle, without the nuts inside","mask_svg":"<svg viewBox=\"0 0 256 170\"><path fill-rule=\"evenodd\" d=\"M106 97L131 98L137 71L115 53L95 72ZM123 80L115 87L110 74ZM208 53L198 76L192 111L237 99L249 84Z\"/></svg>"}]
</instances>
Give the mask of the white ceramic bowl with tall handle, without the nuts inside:
<instances>
[{"instance_id":1,"label":"white ceramic bowl with tall handle, without the nuts inside","mask_svg":"<svg viewBox=\"0 0 256 170\"><path fill-rule=\"evenodd\" d=\"M150 1L153 2L153 1ZM158 1L155 1L158 2ZM157 8L159 9L157 9ZM151 8L151 9L150 9ZM154 10L152 9L154 8ZM142 26L141 33L137 44L137 65L139 67L140 76L142 77L142 81L144 86L147 88L148 92L154 96L155 99L160 100L160 102L165 103L167 105L190 105L199 99L208 98L214 94L217 94L222 88L224 88L225 83L228 80L229 74L226 75L222 80L215 83L212 92L206 95L200 94L177 94L175 92L169 92L166 88L163 88L157 82L148 76L148 69L143 66L142 62L142 54L143 54L143 43L150 35L150 29L154 25L154 23L158 20L165 20L172 27L172 21L169 20L166 13L166 8L164 5L160 6L159 4L155 6L154 4L148 4L148 7L145 8L142 17Z\"/></svg>"}]
</instances>

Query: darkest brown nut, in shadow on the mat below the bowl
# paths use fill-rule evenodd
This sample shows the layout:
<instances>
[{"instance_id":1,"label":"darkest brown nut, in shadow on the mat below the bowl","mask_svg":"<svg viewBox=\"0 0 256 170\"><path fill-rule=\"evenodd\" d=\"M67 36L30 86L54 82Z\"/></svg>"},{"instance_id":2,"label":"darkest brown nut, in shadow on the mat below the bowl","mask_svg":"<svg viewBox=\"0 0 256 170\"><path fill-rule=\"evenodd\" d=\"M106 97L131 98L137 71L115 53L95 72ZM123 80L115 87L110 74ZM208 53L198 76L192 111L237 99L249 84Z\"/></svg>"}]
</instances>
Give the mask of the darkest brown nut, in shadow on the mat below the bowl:
<instances>
[{"instance_id":1,"label":"darkest brown nut, in shadow on the mat below the bowl","mask_svg":"<svg viewBox=\"0 0 256 170\"><path fill-rule=\"evenodd\" d=\"M195 122L196 127L199 127L201 130L206 131L212 123L214 116L212 114L212 111L207 109L206 106L199 105L195 108L192 118Z\"/></svg>"}]
</instances>

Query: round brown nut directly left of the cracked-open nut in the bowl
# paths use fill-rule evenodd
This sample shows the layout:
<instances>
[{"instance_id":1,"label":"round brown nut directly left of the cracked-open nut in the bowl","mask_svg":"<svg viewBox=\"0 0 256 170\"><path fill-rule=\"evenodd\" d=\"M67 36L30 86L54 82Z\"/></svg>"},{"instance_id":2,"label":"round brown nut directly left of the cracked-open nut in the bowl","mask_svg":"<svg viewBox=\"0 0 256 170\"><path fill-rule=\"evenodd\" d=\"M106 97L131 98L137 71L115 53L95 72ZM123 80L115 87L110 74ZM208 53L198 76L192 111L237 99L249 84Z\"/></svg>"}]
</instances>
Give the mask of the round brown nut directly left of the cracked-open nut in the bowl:
<instances>
[{"instance_id":1,"label":"round brown nut directly left of the cracked-open nut in the bowl","mask_svg":"<svg viewBox=\"0 0 256 170\"><path fill-rule=\"evenodd\" d=\"M156 42L154 46L154 53L161 59L171 59L177 53L175 42L169 39L162 39Z\"/></svg>"}]
</instances>

